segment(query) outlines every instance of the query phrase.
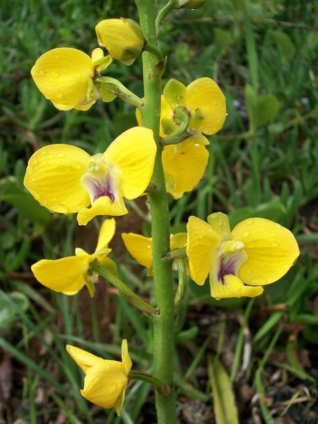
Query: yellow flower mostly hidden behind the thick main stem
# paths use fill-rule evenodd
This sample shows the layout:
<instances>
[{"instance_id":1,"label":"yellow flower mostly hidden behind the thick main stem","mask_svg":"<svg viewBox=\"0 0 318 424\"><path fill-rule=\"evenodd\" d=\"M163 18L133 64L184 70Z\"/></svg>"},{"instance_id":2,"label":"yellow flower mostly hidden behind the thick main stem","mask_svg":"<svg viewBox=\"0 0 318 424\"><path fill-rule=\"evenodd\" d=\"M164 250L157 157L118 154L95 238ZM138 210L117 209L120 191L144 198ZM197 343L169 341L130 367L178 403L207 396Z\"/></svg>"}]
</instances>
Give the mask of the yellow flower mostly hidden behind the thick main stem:
<instances>
[{"instance_id":1,"label":"yellow flower mostly hidden behind the thick main stem","mask_svg":"<svg viewBox=\"0 0 318 424\"><path fill-rule=\"evenodd\" d=\"M153 276L152 272L152 237L141 236L135 233L122 233L121 235L126 249L132 258L136 259L140 265L148 268L148 276ZM187 233L177 233L170 235L170 249L181 249L187 244Z\"/></svg>"}]
</instances>

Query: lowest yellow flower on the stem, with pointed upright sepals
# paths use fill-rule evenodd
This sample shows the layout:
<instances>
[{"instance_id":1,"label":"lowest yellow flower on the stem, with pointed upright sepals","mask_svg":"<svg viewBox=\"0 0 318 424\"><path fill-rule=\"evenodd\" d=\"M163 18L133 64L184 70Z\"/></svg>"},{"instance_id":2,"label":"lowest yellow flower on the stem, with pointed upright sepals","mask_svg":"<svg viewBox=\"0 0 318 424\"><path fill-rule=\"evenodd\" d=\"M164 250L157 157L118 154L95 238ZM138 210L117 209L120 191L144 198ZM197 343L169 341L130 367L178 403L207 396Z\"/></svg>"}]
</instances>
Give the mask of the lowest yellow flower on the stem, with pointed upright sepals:
<instances>
[{"instance_id":1,"label":"lowest yellow flower on the stem, with pointed upright sepals","mask_svg":"<svg viewBox=\"0 0 318 424\"><path fill-rule=\"evenodd\" d=\"M70 345L66 346L66 350L86 374L82 396L103 408L115 408L119 416L132 365L127 340L124 339L121 344L122 362L102 359Z\"/></svg>"}]
</instances>

